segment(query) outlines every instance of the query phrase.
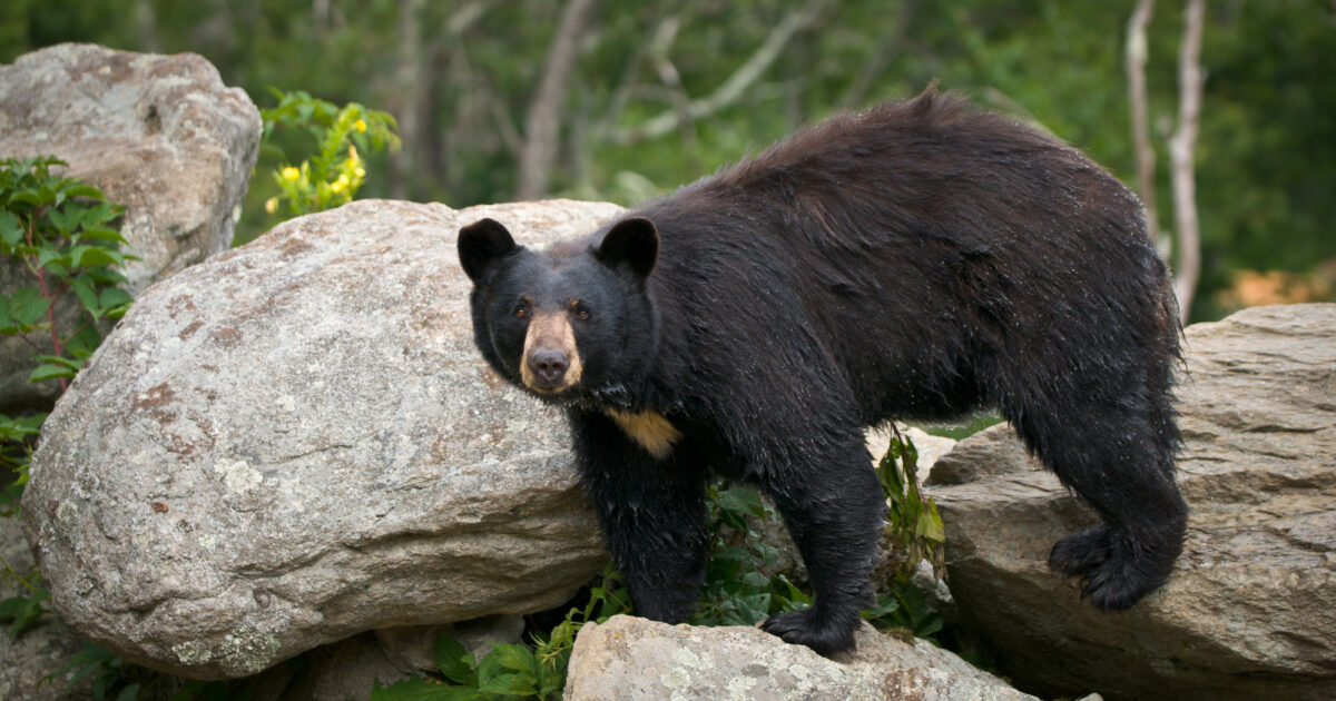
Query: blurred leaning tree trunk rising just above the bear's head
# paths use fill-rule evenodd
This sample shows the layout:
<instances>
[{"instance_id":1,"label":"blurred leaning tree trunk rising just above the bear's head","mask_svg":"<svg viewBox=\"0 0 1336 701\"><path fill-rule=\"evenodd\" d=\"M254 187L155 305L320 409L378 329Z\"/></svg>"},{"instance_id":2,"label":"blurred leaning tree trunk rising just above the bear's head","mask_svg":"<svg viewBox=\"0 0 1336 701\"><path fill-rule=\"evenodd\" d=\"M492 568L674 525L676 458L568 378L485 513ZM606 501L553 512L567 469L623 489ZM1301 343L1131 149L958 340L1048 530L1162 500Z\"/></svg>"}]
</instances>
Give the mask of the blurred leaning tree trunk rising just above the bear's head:
<instances>
[{"instance_id":1,"label":"blurred leaning tree trunk rising just above the bear's head","mask_svg":"<svg viewBox=\"0 0 1336 701\"><path fill-rule=\"evenodd\" d=\"M548 57L544 64L538 89L529 103L525 122L524 146L520 151L520 183L516 187L516 200L538 199L548 194L552 170L557 162L558 131L561 111L566 97L566 84L574 68L578 53L577 40L584 32L585 20L593 7L593 0L569 0L561 11L561 24L557 27Z\"/></svg>"}]
</instances>

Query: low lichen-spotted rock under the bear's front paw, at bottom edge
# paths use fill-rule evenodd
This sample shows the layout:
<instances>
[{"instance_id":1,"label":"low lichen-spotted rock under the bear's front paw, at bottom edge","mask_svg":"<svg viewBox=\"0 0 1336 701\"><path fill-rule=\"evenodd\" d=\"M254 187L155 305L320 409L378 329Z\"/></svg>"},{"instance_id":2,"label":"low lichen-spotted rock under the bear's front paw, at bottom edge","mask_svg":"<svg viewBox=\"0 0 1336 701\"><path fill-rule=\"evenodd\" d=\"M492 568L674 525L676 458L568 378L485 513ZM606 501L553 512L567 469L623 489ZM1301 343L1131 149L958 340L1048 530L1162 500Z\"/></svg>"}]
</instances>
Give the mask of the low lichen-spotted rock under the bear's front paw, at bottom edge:
<instances>
[{"instance_id":1,"label":"low lichen-spotted rock under the bear's front paw, at bottom edge","mask_svg":"<svg viewBox=\"0 0 1336 701\"><path fill-rule=\"evenodd\" d=\"M576 637L565 698L1034 698L923 640L902 641L867 624L856 640L858 653L836 662L756 628L672 626L615 616Z\"/></svg>"}]
</instances>

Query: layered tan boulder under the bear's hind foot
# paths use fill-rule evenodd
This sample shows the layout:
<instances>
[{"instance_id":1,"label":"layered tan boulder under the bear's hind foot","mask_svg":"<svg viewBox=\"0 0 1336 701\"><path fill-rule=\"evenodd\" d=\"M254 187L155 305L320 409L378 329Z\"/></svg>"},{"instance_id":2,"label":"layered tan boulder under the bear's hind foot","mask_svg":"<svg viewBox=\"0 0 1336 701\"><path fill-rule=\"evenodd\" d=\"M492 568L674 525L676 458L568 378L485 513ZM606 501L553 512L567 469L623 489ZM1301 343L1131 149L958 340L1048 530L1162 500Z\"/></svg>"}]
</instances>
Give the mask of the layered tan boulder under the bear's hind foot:
<instances>
[{"instance_id":1,"label":"layered tan boulder under the bear's hind foot","mask_svg":"<svg viewBox=\"0 0 1336 701\"><path fill-rule=\"evenodd\" d=\"M1169 582L1108 616L1049 574L1053 543L1097 518L997 426L933 471L951 593L1033 693L1336 698L1336 304L1249 308L1185 347L1192 514Z\"/></svg>"}]
</instances>

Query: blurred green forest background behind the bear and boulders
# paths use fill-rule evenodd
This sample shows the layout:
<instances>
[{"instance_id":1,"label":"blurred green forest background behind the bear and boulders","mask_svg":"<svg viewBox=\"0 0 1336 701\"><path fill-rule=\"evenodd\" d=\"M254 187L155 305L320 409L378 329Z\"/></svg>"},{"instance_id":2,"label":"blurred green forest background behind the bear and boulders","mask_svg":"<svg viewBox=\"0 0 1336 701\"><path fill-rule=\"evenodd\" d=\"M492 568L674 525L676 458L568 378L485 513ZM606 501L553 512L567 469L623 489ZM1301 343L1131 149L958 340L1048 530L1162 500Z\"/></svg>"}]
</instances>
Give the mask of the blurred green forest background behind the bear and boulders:
<instances>
[{"instance_id":1,"label":"blurred green forest background behind the bear and boulders","mask_svg":"<svg viewBox=\"0 0 1336 701\"><path fill-rule=\"evenodd\" d=\"M1157 216L1188 0L1146 25ZM361 196L452 207L537 196L635 204L846 108L933 80L1042 126L1136 187L1125 72L1137 0L3 0L0 63L61 41L196 52L270 88L398 119ZM1332 299L1336 0L1206 0L1196 139L1202 274L1192 320ZM301 147L275 146L291 152ZM239 240L281 218L261 156Z\"/></svg>"}]
</instances>

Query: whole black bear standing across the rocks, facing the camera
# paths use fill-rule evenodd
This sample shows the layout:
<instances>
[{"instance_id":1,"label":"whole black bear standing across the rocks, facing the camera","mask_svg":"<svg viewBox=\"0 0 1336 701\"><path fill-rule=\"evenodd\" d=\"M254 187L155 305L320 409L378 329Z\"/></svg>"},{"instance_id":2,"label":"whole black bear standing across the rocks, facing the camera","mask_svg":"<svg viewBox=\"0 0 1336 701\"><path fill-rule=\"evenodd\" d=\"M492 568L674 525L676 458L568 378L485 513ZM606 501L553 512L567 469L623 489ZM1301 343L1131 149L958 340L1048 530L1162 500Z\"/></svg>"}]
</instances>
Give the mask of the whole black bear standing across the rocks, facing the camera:
<instances>
[{"instance_id":1,"label":"whole black bear standing across the rocks, facing the camera","mask_svg":"<svg viewBox=\"0 0 1336 701\"><path fill-rule=\"evenodd\" d=\"M640 616L692 612L724 475L774 499L815 590L763 628L851 648L883 513L860 429L979 406L1102 518L1049 559L1096 606L1182 549L1180 327L1142 207L959 97L832 118L546 251L484 219L458 252L484 358L565 407Z\"/></svg>"}]
</instances>

